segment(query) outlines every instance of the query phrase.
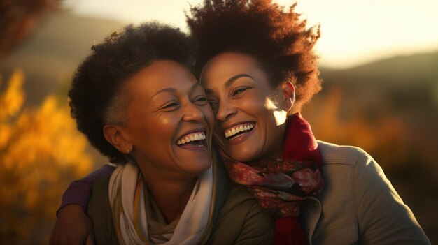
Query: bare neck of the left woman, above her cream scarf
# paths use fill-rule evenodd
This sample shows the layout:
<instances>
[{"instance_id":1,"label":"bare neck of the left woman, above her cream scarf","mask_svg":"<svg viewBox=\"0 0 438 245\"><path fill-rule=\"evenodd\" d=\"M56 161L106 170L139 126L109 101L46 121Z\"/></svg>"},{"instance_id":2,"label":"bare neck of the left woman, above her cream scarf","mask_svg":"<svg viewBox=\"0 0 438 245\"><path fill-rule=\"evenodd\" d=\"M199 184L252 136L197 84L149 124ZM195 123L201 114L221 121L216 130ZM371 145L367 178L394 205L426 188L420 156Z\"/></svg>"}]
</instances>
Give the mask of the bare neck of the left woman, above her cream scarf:
<instances>
[{"instance_id":1,"label":"bare neck of the left woman, above her cream scarf","mask_svg":"<svg viewBox=\"0 0 438 245\"><path fill-rule=\"evenodd\" d=\"M150 169L141 170L141 172L150 195L160 207L167 223L171 223L181 216L192 195L197 177L190 179L163 178L162 175L154 175Z\"/></svg>"}]
</instances>

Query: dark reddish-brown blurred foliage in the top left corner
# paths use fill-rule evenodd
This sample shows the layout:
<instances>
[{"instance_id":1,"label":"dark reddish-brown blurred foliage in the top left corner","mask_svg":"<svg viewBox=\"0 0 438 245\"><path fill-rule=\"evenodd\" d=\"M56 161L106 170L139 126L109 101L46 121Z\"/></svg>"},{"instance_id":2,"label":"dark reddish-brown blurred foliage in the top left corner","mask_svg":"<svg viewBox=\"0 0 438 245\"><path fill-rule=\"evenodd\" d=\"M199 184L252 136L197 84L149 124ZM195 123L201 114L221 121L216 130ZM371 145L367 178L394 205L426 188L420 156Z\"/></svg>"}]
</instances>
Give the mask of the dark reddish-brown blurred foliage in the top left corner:
<instances>
[{"instance_id":1,"label":"dark reddish-brown blurred foliage in the top left corner","mask_svg":"<svg viewBox=\"0 0 438 245\"><path fill-rule=\"evenodd\" d=\"M58 6L59 0L1 0L0 56L9 54L45 14Z\"/></svg>"}]
</instances>

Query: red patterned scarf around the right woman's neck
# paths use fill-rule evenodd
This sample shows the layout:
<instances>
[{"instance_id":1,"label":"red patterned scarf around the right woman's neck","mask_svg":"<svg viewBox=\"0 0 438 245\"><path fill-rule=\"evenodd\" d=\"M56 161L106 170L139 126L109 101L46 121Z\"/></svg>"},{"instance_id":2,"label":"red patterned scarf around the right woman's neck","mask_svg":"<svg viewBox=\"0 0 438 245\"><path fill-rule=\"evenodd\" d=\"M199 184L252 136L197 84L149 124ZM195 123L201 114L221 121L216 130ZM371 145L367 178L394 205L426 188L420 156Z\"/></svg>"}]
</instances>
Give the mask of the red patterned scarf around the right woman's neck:
<instances>
[{"instance_id":1,"label":"red patterned scarf around the right woman's neck","mask_svg":"<svg viewBox=\"0 0 438 245\"><path fill-rule=\"evenodd\" d=\"M309 123L300 114L288 118L283 155L283 159L246 164L222 152L222 161L232 181L248 186L264 210L276 217L274 244L306 244L299 205L322 191L323 159Z\"/></svg>"}]
</instances>

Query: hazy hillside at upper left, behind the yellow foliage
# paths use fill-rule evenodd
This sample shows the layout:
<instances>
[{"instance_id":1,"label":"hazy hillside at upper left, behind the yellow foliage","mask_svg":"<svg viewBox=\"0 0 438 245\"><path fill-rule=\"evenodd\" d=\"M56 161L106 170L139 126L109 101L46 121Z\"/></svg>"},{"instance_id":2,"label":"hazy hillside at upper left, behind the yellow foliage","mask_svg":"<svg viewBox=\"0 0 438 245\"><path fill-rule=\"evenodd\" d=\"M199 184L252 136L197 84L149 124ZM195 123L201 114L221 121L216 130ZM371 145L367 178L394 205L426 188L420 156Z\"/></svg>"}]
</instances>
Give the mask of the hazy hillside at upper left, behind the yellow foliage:
<instances>
[{"instance_id":1,"label":"hazy hillside at upper left, behind the yellow foliage","mask_svg":"<svg viewBox=\"0 0 438 245\"><path fill-rule=\"evenodd\" d=\"M123 27L113 20L102 20L59 10L34 30L29 40L0 61L3 80L16 68L26 74L24 91L27 104L40 103L45 96L66 90L71 74L90 52L94 42Z\"/></svg>"}]
</instances>

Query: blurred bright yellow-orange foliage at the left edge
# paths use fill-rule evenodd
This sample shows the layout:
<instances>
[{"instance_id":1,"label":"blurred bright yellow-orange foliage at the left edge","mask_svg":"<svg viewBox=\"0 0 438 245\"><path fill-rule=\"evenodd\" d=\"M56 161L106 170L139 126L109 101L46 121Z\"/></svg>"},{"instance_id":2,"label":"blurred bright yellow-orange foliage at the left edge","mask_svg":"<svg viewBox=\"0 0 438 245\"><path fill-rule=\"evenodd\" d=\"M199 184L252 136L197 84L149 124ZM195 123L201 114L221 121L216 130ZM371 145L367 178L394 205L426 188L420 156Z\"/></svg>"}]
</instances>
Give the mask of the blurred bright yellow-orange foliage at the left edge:
<instances>
[{"instance_id":1,"label":"blurred bright yellow-orange foliage at the left edge","mask_svg":"<svg viewBox=\"0 0 438 245\"><path fill-rule=\"evenodd\" d=\"M22 109L23 80L15 71L0 94L0 244L46 244L62 192L93 168L68 106Z\"/></svg>"}]
</instances>

